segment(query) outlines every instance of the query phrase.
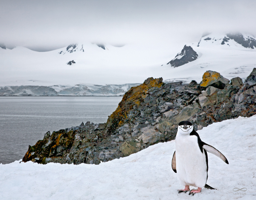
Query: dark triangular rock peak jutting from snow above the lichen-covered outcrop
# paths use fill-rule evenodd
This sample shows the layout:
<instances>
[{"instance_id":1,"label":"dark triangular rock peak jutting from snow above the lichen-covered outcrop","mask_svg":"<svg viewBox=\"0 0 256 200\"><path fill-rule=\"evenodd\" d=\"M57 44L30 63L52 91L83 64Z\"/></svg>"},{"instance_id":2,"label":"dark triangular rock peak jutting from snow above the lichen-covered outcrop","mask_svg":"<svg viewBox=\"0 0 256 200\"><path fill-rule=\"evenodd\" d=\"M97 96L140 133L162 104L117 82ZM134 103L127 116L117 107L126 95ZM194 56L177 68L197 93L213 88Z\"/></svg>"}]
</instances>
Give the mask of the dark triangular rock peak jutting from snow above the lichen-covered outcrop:
<instances>
[{"instance_id":1,"label":"dark triangular rock peak jutting from snow above the lichen-covered outcrop","mask_svg":"<svg viewBox=\"0 0 256 200\"><path fill-rule=\"evenodd\" d=\"M185 65L188 62L192 62L198 58L198 54L192 49L191 46L184 46L182 51L178 53L174 59L167 63L167 65L171 65L172 67L179 67L181 65Z\"/></svg>"}]
</instances>

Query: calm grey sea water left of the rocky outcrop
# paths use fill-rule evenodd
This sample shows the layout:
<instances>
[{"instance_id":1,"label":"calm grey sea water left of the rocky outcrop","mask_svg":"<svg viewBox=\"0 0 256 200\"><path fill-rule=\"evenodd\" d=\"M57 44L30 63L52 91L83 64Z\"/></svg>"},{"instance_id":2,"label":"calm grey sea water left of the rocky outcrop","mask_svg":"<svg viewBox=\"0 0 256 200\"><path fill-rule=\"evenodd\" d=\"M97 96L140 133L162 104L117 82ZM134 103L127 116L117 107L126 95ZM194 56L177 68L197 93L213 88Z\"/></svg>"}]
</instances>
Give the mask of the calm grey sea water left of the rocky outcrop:
<instances>
[{"instance_id":1,"label":"calm grey sea water left of the rocky outcrop","mask_svg":"<svg viewBox=\"0 0 256 200\"><path fill-rule=\"evenodd\" d=\"M0 96L0 163L23 158L29 145L57 131L81 122L104 123L122 97Z\"/></svg>"}]
</instances>

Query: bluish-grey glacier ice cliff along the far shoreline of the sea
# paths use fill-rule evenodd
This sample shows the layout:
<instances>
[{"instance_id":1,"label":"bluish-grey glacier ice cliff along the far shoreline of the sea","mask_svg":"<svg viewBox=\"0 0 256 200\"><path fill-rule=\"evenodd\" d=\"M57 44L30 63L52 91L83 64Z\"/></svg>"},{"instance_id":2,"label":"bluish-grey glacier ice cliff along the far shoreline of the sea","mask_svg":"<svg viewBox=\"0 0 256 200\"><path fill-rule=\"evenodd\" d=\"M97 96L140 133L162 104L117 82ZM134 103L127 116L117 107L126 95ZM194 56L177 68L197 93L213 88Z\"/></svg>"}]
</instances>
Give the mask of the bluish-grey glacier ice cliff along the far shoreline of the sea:
<instances>
[{"instance_id":1,"label":"bluish-grey glacier ice cliff along the far shoreline of the sea","mask_svg":"<svg viewBox=\"0 0 256 200\"><path fill-rule=\"evenodd\" d=\"M0 87L0 96L122 96L137 85L5 86Z\"/></svg>"}]
</instances>

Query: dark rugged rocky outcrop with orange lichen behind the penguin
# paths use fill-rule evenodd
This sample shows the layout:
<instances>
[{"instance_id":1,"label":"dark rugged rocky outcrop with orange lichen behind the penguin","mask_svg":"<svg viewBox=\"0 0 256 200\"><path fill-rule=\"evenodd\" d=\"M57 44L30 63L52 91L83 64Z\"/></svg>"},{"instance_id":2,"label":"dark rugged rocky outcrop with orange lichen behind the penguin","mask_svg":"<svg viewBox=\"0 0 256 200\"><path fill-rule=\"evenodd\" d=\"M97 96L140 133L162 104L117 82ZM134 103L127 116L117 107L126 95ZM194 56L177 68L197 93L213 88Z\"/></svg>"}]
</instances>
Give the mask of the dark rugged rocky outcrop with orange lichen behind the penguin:
<instances>
[{"instance_id":1,"label":"dark rugged rocky outcrop with orange lichen behind the penguin","mask_svg":"<svg viewBox=\"0 0 256 200\"><path fill-rule=\"evenodd\" d=\"M213 122L255 115L255 71L244 86L225 84L224 89L209 85L201 90L195 81L165 84L161 78L148 78L125 93L106 123L87 122L47 132L43 140L29 146L23 161L99 164L173 140L177 124L183 120L200 130Z\"/></svg>"}]
</instances>

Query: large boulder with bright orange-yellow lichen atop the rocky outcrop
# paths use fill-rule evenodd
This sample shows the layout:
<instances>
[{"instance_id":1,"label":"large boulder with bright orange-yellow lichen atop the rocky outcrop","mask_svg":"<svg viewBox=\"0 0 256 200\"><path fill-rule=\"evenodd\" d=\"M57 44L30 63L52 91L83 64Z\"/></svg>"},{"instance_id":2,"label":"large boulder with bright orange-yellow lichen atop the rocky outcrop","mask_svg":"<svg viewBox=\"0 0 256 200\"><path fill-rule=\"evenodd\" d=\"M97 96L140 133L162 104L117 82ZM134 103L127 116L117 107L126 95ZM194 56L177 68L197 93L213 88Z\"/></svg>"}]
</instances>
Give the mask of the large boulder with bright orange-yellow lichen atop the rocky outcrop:
<instances>
[{"instance_id":1,"label":"large boulder with bright orange-yellow lichen atop the rocky outcrop","mask_svg":"<svg viewBox=\"0 0 256 200\"><path fill-rule=\"evenodd\" d=\"M203 89L212 86L222 90L229 83L230 80L221 76L220 73L209 70L204 73L203 80L201 81L200 86Z\"/></svg>"}]
</instances>

